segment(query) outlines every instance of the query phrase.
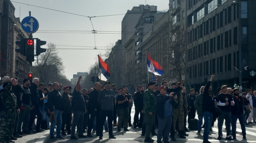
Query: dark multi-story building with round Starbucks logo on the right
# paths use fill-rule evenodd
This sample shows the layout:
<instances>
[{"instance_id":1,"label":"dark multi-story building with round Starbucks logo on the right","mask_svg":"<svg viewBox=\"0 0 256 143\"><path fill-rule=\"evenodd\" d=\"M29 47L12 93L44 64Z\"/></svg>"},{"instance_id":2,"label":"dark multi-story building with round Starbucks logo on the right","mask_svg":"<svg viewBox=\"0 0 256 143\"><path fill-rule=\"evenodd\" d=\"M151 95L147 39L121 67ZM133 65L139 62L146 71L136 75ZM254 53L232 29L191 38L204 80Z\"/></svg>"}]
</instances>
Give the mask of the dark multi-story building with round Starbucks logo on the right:
<instances>
[{"instance_id":1,"label":"dark multi-story building with round Starbucks logo on the right","mask_svg":"<svg viewBox=\"0 0 256 143\"><path fill-rule=\"evenodd\" d=\"M173 0L176 1L176 0ZM177 0L178 1L178 0ZM187 87L200 89L215 74L213 91L238 84L256 88L256 1L186 0L189 35ZM248 70L244 67L249 66ZM236 70L238 69L238 70Z\"/></svg>"}]
</instances>

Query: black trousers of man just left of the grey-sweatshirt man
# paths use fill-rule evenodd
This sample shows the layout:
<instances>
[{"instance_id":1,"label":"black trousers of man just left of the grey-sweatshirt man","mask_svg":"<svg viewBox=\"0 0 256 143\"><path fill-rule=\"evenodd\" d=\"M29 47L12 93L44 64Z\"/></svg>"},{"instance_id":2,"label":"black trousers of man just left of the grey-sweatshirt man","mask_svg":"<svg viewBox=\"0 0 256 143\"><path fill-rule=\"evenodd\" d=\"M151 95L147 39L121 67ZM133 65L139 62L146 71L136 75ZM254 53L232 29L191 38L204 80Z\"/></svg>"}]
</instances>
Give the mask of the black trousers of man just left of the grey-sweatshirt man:
<instances>
[{"instance_id":1,"label":"black trousers of man just left of the grey-sweatshirt man","mask_svg":"<svg viewBox=\"0 0 256 143\"><path fill-rule=\"evenodd\" d=\"M99 135L99 129L100 129L99 127L100 127L100 124L101 124L100 115L101 115L101 111L91 111L90 112L90 119L89 119L89 122L88 122L87 135L91 135L91 130L93 128L93 121L94 121L95 117L96 117L96 135Z\"/></svg>"}]
</instances>

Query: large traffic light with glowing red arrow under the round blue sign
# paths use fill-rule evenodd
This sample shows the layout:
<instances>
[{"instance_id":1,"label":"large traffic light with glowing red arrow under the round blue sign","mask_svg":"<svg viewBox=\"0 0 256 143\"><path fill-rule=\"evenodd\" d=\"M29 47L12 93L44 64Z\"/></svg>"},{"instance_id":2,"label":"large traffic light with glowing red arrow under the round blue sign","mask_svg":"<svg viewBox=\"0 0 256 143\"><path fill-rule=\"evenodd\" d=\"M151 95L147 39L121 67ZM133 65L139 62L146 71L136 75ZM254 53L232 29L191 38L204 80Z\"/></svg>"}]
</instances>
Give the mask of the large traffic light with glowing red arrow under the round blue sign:
<instances>
[{"instance_id":1,"label":"large traffic light with glowing red arrow under the round blue sign","mask_svg":"<svg viewBox=\"0 0 256 143\"><path fill-rule=\"evenodd\" d=\"M26 60L28 62L34 62L34 39L26 38L24 41L26 45Z\"/></svg>"}]
</instances>

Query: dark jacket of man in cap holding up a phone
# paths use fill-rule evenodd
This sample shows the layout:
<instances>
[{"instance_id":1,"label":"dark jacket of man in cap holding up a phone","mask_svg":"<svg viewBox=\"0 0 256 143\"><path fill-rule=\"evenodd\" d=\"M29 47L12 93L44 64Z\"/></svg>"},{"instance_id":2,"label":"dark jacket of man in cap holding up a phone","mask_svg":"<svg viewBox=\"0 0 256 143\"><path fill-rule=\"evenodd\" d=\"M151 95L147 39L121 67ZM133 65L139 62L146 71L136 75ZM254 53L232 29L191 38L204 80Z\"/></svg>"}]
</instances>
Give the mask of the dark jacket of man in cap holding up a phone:
<instances>
[{"instance_id":1,"label":"dark jacket of man in cap holding up a phone","mask_svg":"<svg viewBox=\"0 0 256 143\"><path fill-rule=\"evenodd\" d=\"M157 116L163 118L165 114L165 102L169 100L172 104L172 98L170 96L159 94L157 95Z\"/></svg>"}]
</instances>

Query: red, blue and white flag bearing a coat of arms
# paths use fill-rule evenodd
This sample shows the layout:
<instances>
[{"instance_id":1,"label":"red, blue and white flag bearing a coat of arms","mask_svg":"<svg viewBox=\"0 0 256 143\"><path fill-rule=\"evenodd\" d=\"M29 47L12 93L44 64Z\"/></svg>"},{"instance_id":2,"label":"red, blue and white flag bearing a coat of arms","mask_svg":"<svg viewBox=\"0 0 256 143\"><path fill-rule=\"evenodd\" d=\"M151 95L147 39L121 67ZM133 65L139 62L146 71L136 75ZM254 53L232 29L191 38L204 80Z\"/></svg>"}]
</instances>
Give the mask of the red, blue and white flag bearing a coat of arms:
<instances>
[{"instance_id":1,"label":"red, blue and white flag bearing a coat of arms","mask_svg":"<svg viewBox=\"0 0 256 143\"><path fill-rule=\"evenodd\" d=\"M163 67L158 62L155 62L149 53L147 53L147 70L156 76L162 76L163 74Z\"/></svg>"}]
</instances>

